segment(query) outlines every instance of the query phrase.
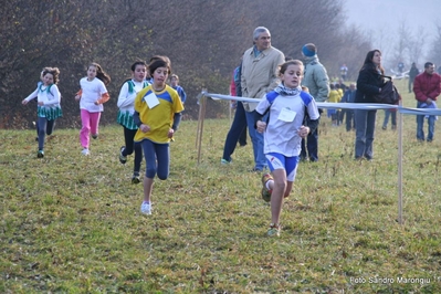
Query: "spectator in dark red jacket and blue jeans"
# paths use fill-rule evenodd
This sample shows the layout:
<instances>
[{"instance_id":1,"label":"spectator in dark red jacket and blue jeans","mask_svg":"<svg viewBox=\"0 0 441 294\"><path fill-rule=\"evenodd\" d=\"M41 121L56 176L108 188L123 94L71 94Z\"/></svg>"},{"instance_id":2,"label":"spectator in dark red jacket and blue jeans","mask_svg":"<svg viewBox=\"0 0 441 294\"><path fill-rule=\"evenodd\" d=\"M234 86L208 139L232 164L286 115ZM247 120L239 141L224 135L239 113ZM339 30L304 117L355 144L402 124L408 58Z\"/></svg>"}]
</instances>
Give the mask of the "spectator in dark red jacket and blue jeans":
<instances>
[{"instance_id":1,"label":"spectator in dark red jacket and blue jeans","mask_svg":"<svg viewBox=\"0 0 441 294\"><path fill-rule=\"evenodd\" d=\"M417 75L413 82L413 93L417 99L417 108L437 108L435 101L441 93L441 75L434 72L434 64L426 62L424 72ZM434 115L428 117L428 141L433 140ZM424 140L424 115L417 115L417 139Z\"/></svg>"}]
</instances>

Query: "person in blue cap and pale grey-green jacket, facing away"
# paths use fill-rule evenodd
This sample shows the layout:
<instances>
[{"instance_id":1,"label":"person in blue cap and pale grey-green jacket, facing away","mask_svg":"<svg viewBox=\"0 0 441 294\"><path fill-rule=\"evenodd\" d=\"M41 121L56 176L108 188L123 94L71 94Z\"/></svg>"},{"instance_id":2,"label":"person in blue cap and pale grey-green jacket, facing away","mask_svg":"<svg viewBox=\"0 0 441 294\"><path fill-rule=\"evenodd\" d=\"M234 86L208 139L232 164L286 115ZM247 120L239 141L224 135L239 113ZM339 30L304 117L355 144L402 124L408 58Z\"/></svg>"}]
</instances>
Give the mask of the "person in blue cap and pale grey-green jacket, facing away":
<instances>
[{"instance_id":1,"label":"person in blue cap and pale grey-green jacket, facing away","mask_svg":"<svg viewBox=\"0 0 441 294\"><path fill-rule=\"evenodd\" d=\"M305 74L302 85L309 90L309 94L316 102L325 102L329 95L329 77L325 66L318 61L317 48L307 43L302 48L305 59ZM323 111L319 109L319 113ZM309 133L306 139L302 139L301 160L318 160L318 128Z\"/></svg>"}]
</instances>

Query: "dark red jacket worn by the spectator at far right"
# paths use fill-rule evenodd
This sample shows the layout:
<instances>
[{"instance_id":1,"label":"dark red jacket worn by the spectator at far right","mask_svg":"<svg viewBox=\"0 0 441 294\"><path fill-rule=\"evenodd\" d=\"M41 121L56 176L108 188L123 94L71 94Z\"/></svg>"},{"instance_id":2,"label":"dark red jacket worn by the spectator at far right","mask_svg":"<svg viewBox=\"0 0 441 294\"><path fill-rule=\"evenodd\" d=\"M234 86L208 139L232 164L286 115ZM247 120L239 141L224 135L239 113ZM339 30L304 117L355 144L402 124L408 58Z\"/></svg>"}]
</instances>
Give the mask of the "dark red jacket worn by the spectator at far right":
<instances>
[{"instance_id":1,"label":"dark red jacket worn by the spectator at far right","mask_svg":"<svg viewBox=\"0 0 441 294\"><path fill-rule=\"evenodd\" d=\"M438 73L420 73L414 78L413 92L417 101L426 102L428 98L437 101L437 97L441 94L441 75Z\"/></svg>"}]
</instances>

